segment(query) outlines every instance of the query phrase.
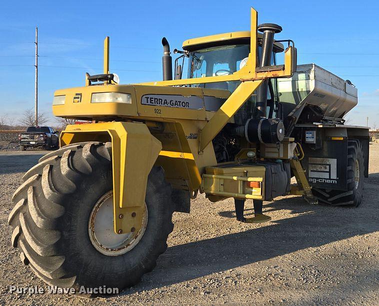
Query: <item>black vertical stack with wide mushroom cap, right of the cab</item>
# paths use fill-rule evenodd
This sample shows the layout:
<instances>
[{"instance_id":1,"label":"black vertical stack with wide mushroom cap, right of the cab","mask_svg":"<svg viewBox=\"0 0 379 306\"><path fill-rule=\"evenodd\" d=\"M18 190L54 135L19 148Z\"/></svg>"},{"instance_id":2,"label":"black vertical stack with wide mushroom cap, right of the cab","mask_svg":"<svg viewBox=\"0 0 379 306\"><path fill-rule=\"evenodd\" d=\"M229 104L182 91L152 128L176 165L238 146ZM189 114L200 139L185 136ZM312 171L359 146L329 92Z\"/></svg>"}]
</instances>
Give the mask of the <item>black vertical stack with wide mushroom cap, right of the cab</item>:
<instances>
[{"instance_id":1,"label":"black vertical stack with wide mushroom cap, right of the cab","mask_svg":"<svg viewBox=\"0 0 379 306\"><path fill-rule=\"evenodd\" d=\"M262 24L258 26L258 31L263 32L262 51L260 53L259 67L269 66L273 49L273 37L275 33L281 32L281 27L275 24ZM265 118L267 109L267 87L269 80L263 83L256 90L256 117Z\"/></svg>"}]
</instances>

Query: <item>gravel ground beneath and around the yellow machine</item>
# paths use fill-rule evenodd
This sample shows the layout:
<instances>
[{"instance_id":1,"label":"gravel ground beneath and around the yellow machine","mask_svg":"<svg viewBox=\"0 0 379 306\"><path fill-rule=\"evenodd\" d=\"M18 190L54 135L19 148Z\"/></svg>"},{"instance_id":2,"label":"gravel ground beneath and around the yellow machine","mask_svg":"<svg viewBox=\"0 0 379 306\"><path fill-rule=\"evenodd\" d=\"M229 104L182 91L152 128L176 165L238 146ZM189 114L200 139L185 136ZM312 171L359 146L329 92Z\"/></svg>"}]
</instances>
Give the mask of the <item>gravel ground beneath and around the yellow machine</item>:
<instances>
[{"instance_id":1,"label":"gravel ground beneath and around the yellow machine","mask_svg":"<svg viewBox=\"0 0 379 306\"><path fill-rule=\"evenodd\" d=\"M193 200L175 213L168 249L142 281L117 296L10 294L46 285L10 245L9 198L43 151L0 152L1 304L379 304L379 145L370 145L369 177L359 208L311 206L300 197L264 203L272 221L234 220L232 200ZM252 213L246 203L245 215Z\"/></svg>"}]
</instances>

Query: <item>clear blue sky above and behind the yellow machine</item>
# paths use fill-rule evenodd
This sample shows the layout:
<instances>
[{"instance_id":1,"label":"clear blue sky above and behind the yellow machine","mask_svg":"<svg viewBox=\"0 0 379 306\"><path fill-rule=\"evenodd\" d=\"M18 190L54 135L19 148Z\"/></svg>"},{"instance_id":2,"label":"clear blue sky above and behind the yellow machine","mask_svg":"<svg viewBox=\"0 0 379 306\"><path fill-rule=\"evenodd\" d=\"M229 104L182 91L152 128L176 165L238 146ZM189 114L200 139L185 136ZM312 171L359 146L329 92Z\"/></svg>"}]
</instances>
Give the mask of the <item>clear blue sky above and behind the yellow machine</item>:
<instances>
[{"instance_id":1,"label":"clear blue sky above and behind the yellow machine","mask_svg":"<svg viewBox=\"0 0 379 306\"><path fill-rule=\"evenodd\" d=\"M315 63L358 88L351 123L379 128L379 2L376 1L13 1L0 10L0 114L17 118L34 103L34 28L39 40L39 107L51 118L54 90L84 85L84 73L101 73L102 42L110 36L110 70L121 83L161 79L161 45L249 29L283 28L298 63ZM50 121L54 122L53 119Z\"/></svg>"}]
</instances>

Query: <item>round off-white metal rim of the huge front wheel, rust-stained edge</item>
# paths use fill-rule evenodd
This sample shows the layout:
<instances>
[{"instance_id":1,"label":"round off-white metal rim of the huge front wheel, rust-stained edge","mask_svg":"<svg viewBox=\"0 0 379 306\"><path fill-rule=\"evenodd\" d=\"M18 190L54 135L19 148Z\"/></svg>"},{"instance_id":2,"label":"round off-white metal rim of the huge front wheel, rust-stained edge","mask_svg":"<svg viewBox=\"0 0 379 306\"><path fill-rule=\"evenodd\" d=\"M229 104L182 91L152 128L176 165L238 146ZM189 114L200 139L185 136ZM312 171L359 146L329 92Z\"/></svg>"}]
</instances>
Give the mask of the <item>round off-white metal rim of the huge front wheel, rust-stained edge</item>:
<instances>
[{"instance_id":1,"label":"round off-white metal rim of the huge front wheel, rust-stained edge","mask_svg":"<svg viewBox=\"0 0 379 306\"><path fill-rule=\"evenodd\" d=\"M147 207L138 232L116 234L113 230L113 192L108 191L94 204L88 219L88 235L101 254L119 256L130 251L141 240L147 226Z\"/></svg>"}]
</instances>

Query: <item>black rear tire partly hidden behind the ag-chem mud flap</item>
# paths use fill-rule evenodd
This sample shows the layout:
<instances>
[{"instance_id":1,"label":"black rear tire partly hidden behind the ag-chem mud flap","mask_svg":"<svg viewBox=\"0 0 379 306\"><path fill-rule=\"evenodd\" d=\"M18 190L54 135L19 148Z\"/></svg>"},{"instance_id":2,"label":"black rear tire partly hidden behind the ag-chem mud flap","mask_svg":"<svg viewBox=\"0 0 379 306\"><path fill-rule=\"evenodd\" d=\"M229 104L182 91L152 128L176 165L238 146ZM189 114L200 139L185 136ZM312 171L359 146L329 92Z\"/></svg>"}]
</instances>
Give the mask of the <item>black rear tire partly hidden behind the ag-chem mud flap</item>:
<instances>
[{"instance_id":1,"label":"black rear tire partly hidden behind the ag-chem mud flap","mask_svg":"<svg viewBox=\"0 0 379 306\"><path fill-rule=\"evenodd\" d=\"M313 195L332 206L358 207L363 197L363 150L359 140L347 144L347 191L312 188Z\"/></svg>"}]
</instances>

